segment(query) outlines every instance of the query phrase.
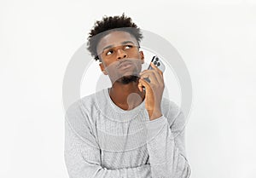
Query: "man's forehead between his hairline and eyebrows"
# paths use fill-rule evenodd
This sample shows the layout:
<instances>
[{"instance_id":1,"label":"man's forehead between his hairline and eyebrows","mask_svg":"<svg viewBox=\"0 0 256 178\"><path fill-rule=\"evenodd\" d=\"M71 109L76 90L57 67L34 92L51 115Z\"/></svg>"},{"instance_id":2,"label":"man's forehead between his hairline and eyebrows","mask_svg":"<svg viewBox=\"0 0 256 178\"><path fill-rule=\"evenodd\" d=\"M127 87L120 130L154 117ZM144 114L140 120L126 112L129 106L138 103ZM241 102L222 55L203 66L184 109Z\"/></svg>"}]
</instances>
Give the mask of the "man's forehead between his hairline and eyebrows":
<instances>
[{"instance_id":1,"label":"man's forehead between his hairline and eyebrows","mask_svg":"<svg viewBox=\"0 0 256 178\"><path fill-rule=\"evenodd\" d=\"M137 39L133 37L129 32L115 31L110 32L99 41L97 45L97 51L102 51L102 49L108 46L119 46L123 42L131 41L137 45Z\"/></svg>"}]
</instances>

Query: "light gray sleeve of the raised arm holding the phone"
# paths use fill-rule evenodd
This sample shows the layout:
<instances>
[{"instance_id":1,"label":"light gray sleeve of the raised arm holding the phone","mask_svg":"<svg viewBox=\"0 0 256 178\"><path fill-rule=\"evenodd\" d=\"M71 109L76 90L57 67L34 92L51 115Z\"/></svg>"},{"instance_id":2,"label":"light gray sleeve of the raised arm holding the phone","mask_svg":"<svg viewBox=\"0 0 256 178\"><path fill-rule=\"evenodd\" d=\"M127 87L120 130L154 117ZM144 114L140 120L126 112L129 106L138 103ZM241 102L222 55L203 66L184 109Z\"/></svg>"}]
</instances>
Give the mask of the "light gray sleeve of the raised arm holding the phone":
<instances>
[{"instance_id":1,"label":"light gray sleeve of the raised arm holding the phone","mask_svg":"<svg viewBox=\"0 0 256 178\"><path fill-rule=\"evenodd\" d=\"M147 146L152 177L188 178L190 168L185 156L183 112L173 123L165 116L148 121Z\"/></svg>"}]
</instances>

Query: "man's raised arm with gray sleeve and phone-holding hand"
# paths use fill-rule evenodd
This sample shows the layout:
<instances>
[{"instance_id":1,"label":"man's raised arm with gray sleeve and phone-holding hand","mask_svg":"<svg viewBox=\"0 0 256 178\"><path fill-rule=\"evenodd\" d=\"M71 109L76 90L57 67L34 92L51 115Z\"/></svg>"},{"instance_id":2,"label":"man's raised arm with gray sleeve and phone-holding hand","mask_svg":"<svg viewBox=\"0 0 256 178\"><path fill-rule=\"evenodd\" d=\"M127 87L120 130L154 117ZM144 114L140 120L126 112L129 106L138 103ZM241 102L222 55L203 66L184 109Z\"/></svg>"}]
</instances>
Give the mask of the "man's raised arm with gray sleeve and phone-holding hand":
<instances>
[{"instance_id":1,"label":"man's raised arm with gray sleeve and phone-holding hand","mask_svg":"<svg viewBox=\"0 0 256 178\"><path fill-rule=\"evenodd\" d=\"M145 70L140 73L138 88L143 92L145 88L145 108L148 111L149 121L147 146L149 161L153 177L188 178L190 175L189 164L185 158L183 112L179 112L177 106L162 105L162 95L165 88L163 72L154 66L153 70ZM149 81L145 78L149 78ZM169 107L171 106L171 107ZM176 108L175 110L173 110ZM173 116L163 114L172 111L177 113L174 123ZM167 118L166 118L167 117Z\"/></svg>"}]
</instances>

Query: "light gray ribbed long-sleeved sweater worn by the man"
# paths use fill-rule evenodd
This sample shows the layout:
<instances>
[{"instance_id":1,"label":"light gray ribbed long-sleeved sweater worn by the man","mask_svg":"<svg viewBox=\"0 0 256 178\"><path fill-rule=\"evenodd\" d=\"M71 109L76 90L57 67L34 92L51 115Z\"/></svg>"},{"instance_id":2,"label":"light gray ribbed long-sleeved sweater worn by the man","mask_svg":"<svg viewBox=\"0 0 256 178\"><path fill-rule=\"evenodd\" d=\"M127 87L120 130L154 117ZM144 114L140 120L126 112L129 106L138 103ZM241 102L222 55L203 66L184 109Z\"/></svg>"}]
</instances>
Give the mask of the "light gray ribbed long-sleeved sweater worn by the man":
<instances>
[{"instance_id":1,"label":"light gray ribbed long-sleeved sweater worn by the man","mask_svg":"<svg viewBox=\"0 0 256 178\"><path fill-rule=\"evenodd\" d=\"M108 89L70 106L65 122L65 161L70 178L188 178L183 112L162 99L163 116L148 118L144 101L125 111Z\"/></svg>"}]
</instances>

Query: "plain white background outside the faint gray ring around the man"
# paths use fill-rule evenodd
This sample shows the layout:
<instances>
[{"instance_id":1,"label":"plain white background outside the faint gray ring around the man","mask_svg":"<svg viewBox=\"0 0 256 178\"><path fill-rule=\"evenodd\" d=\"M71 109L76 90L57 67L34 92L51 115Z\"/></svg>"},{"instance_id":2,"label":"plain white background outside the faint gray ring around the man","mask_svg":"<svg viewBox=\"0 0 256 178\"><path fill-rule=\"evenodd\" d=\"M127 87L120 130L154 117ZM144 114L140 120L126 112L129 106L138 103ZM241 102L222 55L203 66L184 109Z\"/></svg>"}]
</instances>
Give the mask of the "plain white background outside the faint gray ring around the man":
<instances>
[{"instance_id":1,"label":"plain white background outside the faint gray ring around the man","mask_svg":"<svg viewBox=\"0 0 256 178\"><path fill-rule=\"evenodd\" d=\"M123 12L172 43L189 69L191 178L256 177L255 5L1 0L0 177L67 178L61 99L67 64L96 20Z\"/></svg>"}]
</instances>

